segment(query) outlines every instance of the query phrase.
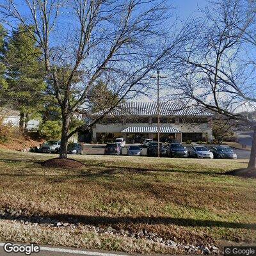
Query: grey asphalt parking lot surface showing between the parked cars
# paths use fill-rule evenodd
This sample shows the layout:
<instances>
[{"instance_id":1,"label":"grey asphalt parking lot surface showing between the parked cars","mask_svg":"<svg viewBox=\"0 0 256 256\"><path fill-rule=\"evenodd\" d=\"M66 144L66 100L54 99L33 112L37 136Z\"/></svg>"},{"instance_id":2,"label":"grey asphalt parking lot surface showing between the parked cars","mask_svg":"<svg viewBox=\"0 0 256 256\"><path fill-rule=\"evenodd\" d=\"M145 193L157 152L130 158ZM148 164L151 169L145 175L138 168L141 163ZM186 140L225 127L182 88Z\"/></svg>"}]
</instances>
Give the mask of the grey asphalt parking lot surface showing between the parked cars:
<instances>
[{"instance_id":1,"label":"grey asphalt parking lot surface showing between the parked cars","mask_svg":"<svg viewBox=\"0 0 256 256\"><path fill-rule=\"evenodd\" d=\"M127 155L127 148L129 145L126 145L123 148L123 155ZM142 147L142 146L141 146ZM186 146L187 148L192 146ZM105 145L97 145L97 144L84 144L83 145L84 154L88 155L104 155ZM237 159L249 159L250 151L242 150L242 149L233 149L237 154ZM142 148L142 156L147 156L147 148Z\"/></svg>"}]
</instances>

